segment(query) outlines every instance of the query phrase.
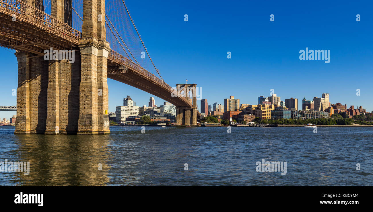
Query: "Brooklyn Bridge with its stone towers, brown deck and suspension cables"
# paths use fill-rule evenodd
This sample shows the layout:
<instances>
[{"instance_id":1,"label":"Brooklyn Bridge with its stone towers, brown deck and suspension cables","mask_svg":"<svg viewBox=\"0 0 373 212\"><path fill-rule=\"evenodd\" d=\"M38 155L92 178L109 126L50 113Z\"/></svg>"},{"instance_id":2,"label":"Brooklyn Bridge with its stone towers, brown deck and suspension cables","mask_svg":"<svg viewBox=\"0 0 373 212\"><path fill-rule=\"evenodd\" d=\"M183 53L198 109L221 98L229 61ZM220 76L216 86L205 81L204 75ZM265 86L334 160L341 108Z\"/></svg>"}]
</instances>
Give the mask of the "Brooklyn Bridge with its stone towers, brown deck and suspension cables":
<instances>
[{"instance_id":1,"label":"Brooklyn Bridge with its stone towers, brown deck and suspension cables","mask_svg":"<svg viewBox=\"0 0 373 212\"><path fill-rule=\"evenodd\" d=\"M164 82L123 0L0 4L0 45L18 61L15 134L110 133L108 77L174 104L177 125L197 124L196 84Z\"/></svg>"}]
</instances>

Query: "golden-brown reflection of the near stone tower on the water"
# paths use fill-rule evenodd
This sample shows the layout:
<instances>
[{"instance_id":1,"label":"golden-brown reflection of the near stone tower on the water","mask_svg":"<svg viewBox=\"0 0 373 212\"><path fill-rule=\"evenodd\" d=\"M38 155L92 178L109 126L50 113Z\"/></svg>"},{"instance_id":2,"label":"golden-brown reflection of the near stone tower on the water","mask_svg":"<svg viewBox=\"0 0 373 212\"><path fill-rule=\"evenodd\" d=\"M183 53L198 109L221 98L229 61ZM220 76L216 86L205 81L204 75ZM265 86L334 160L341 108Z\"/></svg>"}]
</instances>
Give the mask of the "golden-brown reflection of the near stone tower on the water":
<instances>
[{"instance_id":1,"label":"golden-brown reflection of the near stone tower on the water","mask_svg":"<svg viewBox=\"0 0 373 212\"><path fill-rule=\"evenodd\" d=\"M22 186L104 186L109 181L107 136L9 135L8 161L29 161L30 173L1 173L1 184ZM6 149L6 143L1 143ZM1 157L3 159L4 157ZM5 159L5 158L4 158ZM4 161L4 160L3 160ZM98 170L98 164L102 170ZM3 177L3 176L1 176Z\"/></svg>"}]
</instances>

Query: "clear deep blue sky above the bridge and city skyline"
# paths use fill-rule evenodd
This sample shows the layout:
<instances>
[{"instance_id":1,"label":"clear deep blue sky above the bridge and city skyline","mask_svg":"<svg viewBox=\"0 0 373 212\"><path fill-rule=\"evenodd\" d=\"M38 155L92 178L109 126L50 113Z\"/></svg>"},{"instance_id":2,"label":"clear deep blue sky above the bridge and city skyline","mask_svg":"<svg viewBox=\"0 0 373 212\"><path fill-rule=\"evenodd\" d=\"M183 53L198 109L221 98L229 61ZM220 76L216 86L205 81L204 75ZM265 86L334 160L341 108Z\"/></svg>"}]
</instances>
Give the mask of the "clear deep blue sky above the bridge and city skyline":
<instances>
[{"instance_id":1,"label":"clear deep blue sky above the bridge and city skyline","mask_svg":"<svg viewBox=\"0 0 373 212\"><path fill-rule=\"evenodd\" d=\"M303 96L312 99L326 92L332 103L373 110L371 1L126 0L126 4L163 79L171 86L185 79L196 83L209 104L223 104L229 95L239 98L240 104L256 104L258 96L269 96L275 89L282 100L298 98L298 108ZM306 47L330 50L330 63L299 60L299 51ZM0 53L0 105L16 105L12 96L17 88L16 57L3 47ZM147 105L152 96L112 79L108 84L112 112L127 95L138 106ZM155 99L162 104L162 99ZM0 111L1 118L13 114Z\"/></svg>"}]
</instances>

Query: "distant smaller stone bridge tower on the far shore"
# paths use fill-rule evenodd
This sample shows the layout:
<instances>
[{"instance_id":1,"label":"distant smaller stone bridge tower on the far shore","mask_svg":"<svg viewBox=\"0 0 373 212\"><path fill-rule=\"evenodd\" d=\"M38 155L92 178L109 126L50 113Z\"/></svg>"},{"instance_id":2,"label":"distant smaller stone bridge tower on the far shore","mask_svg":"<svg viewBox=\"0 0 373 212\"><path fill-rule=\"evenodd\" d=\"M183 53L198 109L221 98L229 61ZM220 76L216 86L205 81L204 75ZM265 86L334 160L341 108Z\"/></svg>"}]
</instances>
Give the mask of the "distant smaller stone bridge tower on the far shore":
<instances>
[{"instance_id":1,"label":"distant smaller stone bridge tower on the far shore","mask_svg":"<svg viewBox=\"0 0 373 212\"><path fill-rule=\"evenodd\" d=\"M185 96L192 101L192 107L176 106L176 125L197 125L197 84L176 84L177 94ZM181 94L184 92L184 94ZM189 93L192 93L192 99Z\"/></svg>"}]
</instances>

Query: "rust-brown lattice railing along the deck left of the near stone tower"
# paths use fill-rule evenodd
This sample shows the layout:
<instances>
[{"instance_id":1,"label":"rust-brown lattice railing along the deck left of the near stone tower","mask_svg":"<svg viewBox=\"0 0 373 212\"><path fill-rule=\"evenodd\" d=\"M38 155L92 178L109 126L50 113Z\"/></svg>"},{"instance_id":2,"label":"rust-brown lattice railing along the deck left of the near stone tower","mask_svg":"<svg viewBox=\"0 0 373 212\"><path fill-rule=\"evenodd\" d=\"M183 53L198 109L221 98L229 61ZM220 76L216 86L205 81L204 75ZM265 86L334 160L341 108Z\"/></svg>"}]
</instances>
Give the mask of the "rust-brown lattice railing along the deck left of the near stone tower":
<instances>
[{"instance_id":1,"label":"rust-brown lattice railing along the deck left of the near stone tower","mask_svg":"<svg viewBox=\"0 0 373 212\"><path fill-rule=\"evenodd\" d=\"M0 10L15 15L16 20L21 18L35 23L70 42L78 43L78 38L82 36L78 30L22 1L0 0ZM9 18L12 19L12 16Z\"/></svg>"}]
</instances>

